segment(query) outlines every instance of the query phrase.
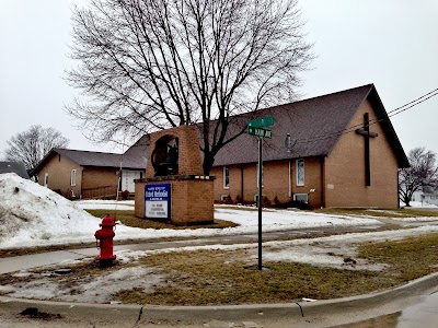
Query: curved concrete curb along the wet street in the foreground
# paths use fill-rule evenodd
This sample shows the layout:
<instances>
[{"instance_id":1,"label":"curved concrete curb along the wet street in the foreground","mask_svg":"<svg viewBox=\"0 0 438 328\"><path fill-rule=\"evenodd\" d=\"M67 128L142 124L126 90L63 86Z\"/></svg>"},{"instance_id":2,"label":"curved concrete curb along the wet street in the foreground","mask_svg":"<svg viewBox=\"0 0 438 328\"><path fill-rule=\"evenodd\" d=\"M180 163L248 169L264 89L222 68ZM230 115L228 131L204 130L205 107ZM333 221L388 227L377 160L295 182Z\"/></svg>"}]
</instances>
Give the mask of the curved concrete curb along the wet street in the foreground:
<instances>
[{"instance_id":1,"label":"curved concrete curb along the wet street in the foreground","mask_svg":"<svg viewBox=\"0 0 438 328\"><path fill-rule=\"evenodd\" d=\"M349 321L358 321L400 312L407 305L420 300L422 296L437 290L438 272L389 291L336 300L287 304L140 306L19 300L7 296L0 296L0 304L1 313L19 314L26 307L37 307L39 312L56 313L73 320L87 318L88 321L123 323L125 325L129 323L128 326L130 327L146 318L149 319L149 323L166 321L174 324L200 324L211 320L269 321L278 319L287 319L288 323L304 323L306 319L307 327L311 327L312 319L316 318L324 318L324 325L327 325L331 320L334 320L335 316L336 323L343 323L342 317ZM321 324L321 320L319 321Z\"/></svg>"}]
</instances>

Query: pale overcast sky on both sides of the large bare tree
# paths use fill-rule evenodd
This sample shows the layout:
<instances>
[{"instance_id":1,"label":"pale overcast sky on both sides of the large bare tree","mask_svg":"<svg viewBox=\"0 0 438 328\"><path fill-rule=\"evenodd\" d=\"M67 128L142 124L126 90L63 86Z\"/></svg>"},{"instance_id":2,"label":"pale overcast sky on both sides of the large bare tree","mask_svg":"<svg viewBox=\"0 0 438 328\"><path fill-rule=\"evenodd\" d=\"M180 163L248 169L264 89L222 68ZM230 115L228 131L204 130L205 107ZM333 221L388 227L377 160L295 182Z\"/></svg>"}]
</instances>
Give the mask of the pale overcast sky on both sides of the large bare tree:
<instances>
[{"instance_id":1,"label":"pale overcast sky on both sides of the large bare tree","mask_svg":"<svg viewBox=\"0 0 438 328\"><path fill-rule=\"evenodd\" d=\"M54 127L71 149L119 152L88 141L65 112L74 90L71 7L84 0L0 0L0 156L7 140L32 125ZM328 5L330 3L330 5ZM303 98L374 83L390 112L438 87L438 1L301 0L308 42L318 58ZM438 153L438 96L392 118L407 153Z\"/></svg>"}]
</instances>

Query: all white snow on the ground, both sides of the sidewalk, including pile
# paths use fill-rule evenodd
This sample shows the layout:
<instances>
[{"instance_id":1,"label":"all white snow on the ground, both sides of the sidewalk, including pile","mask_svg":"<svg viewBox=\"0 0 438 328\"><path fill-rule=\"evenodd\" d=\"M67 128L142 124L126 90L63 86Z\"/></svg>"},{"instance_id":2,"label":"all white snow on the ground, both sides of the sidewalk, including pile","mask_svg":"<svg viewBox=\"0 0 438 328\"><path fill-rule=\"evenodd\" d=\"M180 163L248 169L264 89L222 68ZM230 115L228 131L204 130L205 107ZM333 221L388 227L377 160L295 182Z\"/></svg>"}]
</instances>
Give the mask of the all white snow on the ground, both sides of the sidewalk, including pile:
<instances>
[{"instance_id":1,"label":"all white snow on the ground, both sides of the sidewalk, including pile","mask_svg":"<svg viewBox=\"0 0 438 328\"><path fill-rule=\"evenodd\" d=\"M83 209L127 209L134 210L132 201L87 200L71 202L64 197L31 180L14 174L0 174L0 248L32 247L53 244L93 242L94 232L101 220L87 213ZM395 216L395 215L394 215ZM116 238L157 238L170 236L209 236L255 233L258 227L257 212L246 208L216 207L216 219L240 224L238 227L224 230L141 230L118 225ZM422 221L422 219L415 219ZM426 218L427 221L437 219ZM425 220L426 220L425 219ZM406 220L406 219L404 219ZM270 210L263 212L264 231L280 231L300 227L376 225L380 221L369 216L350 218L343 215L316 214L295 210ZM399 239L430 232L438 232L438 225L414 229L402 229L385 232L350 233L319 238L263 243L264 261L295 261L342 268L348 270L381 270L385 263L368 263L356 258L357 244ZM79 301L104 303L114 300L118 290L142 288L151 290L165 281L162 272L155 272L138 262L141 257L169 251L194 251L197 249L245 249L249 263L257 262L257 243L235 245L208 245L165 248L157 250L118 250L118 262L125 267L110 274L85 277L74 284L62 284L62 280L50 280L54 268L48 267L43 273L22 271L18 277L31 277L30 281L19 284L2 285L0 292L12 297L34 297L42 300ZM92 261L94 257L85 257L74 262ZM231 259L232 260L232 259ZM71 260L69 260L71 261ZM60 266L67 262L60 262ZM102 290L102 283L111 286Z\"/></svg>"}]
</instances>

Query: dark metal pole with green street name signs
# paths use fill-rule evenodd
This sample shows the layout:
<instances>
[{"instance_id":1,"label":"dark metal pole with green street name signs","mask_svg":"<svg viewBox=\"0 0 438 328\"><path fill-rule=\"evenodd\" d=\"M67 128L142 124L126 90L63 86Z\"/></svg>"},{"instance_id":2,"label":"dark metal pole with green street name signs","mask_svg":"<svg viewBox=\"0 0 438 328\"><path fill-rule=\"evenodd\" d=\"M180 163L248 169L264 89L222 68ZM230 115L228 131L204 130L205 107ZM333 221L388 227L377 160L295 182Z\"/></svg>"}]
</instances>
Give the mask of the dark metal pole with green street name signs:
<instances>
[{"instance_id":1,"label":"dark metal pole with green street name signs","mask_svg":"<svg viewBox=\"0 0 438 328\"><path fill-rule=\"evenodd\" d=\"M273 131L264 129L274 125L274 116L253 119L247 122L247 133L258 139L258 270L262 270L262 184L263 184L263 138L273 138Z\"/></svg>"}]
</instances>

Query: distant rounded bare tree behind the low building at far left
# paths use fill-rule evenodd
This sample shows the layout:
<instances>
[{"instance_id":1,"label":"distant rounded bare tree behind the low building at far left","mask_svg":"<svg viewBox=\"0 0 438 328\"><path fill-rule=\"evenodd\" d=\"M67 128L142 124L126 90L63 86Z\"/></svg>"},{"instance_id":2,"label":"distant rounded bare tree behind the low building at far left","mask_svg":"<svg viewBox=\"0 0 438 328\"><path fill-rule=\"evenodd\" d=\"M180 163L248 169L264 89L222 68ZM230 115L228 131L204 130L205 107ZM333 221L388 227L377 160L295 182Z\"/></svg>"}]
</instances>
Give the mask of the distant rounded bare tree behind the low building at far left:
<instances>
[{"instance_id":1,"label":"distant rounded bare tree behind the low building at far left","mask_svg":"<svg viewBox=\"0 0 438 328\"><path fill-rule=\"evenodd\" d=\"M65 148L69 140L54 128L32 126L28 130L13 136L7 143L5 160L21 162L30 172L53 148Z\"/></svg>"}]
</instances>

